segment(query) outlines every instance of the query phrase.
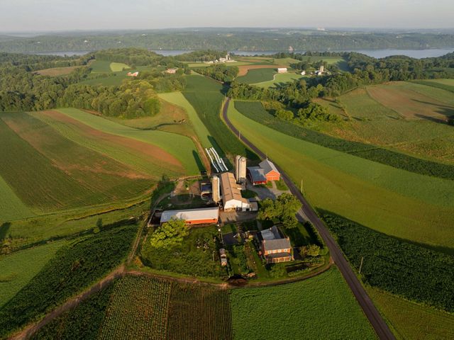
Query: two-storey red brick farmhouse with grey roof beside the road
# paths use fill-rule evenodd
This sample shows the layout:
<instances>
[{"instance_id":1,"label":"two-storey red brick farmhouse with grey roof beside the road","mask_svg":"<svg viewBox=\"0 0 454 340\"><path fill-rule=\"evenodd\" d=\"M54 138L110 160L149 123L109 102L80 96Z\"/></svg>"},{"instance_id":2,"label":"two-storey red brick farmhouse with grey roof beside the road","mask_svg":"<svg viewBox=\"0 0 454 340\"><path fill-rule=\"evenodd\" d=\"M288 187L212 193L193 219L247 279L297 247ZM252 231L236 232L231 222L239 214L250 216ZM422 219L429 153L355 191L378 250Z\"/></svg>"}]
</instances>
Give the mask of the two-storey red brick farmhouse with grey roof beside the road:
<instances>
[{"instance_id":1,"label":"two-storey red brick farmhouse with grey roof beside the road","mask_svg":"<svg viewBox=\"0 0 454 340\"><path fill-rule=\"evenodd\" d=\"M279 229L274 225L270 229L260 232L262 255L267 263L279 263L293 260L292 245L288 237L282 237Z\"/></svg>"}]
</instances>

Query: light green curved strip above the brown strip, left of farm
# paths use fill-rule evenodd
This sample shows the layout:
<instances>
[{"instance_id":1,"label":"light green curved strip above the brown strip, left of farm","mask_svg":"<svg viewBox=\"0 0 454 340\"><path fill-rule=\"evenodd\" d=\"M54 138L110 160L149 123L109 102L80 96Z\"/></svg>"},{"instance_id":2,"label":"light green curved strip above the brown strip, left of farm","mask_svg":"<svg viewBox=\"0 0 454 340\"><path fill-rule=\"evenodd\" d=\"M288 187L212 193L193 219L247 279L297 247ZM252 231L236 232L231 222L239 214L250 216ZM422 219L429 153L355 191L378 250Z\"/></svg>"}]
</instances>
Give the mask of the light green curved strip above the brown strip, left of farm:
<instances>
[{"instance_id":1,"label":"light green curved strip above the brown strip, left of farm","mask_svg":"<svg viewBox=\"0 0 454 340\"><path fill-rule=\"evenodd\" d=\"M60 109L59 112L79 120L79 122L89 125L95 130L160 147L169 153L172 159L177 158L181 162L182 166L184 166L185 174L199 173L199 164L197 163L199 156L194 142L188 137L157 130L149 131L130 128L76 108L64 108ZM173 162L172 159L169 158L168 161Z\"/></svg>"}]
</instances>

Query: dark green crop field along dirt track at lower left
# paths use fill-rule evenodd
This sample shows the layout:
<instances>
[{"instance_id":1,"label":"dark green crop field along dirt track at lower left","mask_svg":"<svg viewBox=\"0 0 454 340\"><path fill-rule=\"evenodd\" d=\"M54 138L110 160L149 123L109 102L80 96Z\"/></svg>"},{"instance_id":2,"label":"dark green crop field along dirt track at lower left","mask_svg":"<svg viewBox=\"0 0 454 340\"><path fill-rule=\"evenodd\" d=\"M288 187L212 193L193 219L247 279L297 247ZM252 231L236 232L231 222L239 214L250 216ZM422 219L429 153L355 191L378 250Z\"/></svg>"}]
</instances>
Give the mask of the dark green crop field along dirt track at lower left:
<instances>
[{"instance_id":1,"label":"dark green crop field along dirt track at lower left","mask_svg":"<svg viewBox=\"0 0 454 340\"><path fill-rule=\"evenodd\" d=\"M137 225L107 229L62 246L11 300L0 308L0 337L39 319L93 285L125 259Z\"/></svg>"}]
</instances>

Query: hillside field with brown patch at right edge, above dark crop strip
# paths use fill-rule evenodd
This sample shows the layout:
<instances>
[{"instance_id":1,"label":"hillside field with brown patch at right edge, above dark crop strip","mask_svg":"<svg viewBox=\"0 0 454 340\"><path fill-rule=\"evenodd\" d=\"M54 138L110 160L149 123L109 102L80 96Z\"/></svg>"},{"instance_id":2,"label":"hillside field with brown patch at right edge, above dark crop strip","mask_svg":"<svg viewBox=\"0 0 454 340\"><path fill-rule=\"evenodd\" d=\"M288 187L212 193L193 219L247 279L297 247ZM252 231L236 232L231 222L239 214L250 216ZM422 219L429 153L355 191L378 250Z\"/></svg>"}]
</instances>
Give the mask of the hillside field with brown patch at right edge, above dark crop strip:
<instances>
[{"instance_id":1,"label":"hillside field with brown patch at right edge, above dark crop strip","mask_svg":"<svg viewBox=\"0 0 454 340\"><path fill-rule=\"evenodd\" d=\"M454 162L454 129L437 121L454 110L451 92L413 83L376 87L389 87L395 94L402 94L403 103L399 103L398 97L395 105L386 107L365 89L356 89L338 98L345 113L334 101L318 100L318 103L328 106L331 113L348 117L340 126L323 125L321 130L345 140L389 147L426 159ZM412 106L406 105L409 102ZM404 118L399 110L409 118ZM421 113L426 116L419 117Z\"/></svg>"}]
</instances>

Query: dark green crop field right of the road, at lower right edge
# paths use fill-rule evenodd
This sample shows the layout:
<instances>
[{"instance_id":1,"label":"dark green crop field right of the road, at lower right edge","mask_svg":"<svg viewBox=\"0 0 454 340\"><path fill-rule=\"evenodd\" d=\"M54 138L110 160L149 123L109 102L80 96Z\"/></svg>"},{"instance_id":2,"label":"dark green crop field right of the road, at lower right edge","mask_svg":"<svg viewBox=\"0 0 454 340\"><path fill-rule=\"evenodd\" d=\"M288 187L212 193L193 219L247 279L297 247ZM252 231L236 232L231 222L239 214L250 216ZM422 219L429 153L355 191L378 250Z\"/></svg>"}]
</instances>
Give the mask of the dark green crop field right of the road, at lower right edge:
<instances>
[{"instance_id":1,"label":"dark green crop field right of the road, at lower right edge","mask_svg":"<svg viewBox=\"0 0 454 340\"><path fill-rule=\"evenodd\" d=\"M454 312L454 256L387 236L337 215L323 219L365 283Z\"/></svg>"}]
</instances>

